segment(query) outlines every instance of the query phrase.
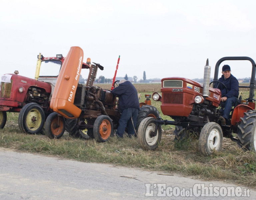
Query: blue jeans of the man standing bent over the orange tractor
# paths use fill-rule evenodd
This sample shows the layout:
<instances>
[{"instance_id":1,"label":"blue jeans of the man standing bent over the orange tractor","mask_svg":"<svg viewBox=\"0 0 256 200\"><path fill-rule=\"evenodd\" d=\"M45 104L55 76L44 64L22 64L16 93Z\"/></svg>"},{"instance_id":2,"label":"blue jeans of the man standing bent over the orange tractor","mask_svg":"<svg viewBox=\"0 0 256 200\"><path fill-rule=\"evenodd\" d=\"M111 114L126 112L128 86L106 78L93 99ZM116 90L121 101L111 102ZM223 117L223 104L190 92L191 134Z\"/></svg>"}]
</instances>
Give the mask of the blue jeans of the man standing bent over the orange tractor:
<instances>
[{"instance_id":1,"label":"blue jeans of the man standing bent over the orange tractor","mask_svg":"<svg viewBox=\"0 0 256 200\"><path fill-rule=\"evenodd\" d=\"M139 110L137 108L127 108L123 110L121 118L119 119L119 126L116 131L117 137L123 137L126 127L128 129L128 135L135 134L138 111Z\"/></svg>"}]
</instances>

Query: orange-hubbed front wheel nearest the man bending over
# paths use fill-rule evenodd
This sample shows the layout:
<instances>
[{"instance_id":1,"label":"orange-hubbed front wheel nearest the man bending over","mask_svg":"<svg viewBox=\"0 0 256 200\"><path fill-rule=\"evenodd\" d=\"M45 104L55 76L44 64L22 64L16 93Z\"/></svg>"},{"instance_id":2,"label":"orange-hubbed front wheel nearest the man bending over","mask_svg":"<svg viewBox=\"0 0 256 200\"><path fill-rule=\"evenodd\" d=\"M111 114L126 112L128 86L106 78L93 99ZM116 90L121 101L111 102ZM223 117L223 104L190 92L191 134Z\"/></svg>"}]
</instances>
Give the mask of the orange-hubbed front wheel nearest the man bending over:
<instances>
[{"instance_id":1,"label":"orange-hubbed front wheel nearest the man bending over","mask_svg":"<svg viewBox=\"0 0 256 200\"><path fill-rule=\"evenodd\" d=\"M97 142L106 142L113 135L113 123L109 116L100 115L93 125L93 135Z\"/></svg>"}]
</instances>

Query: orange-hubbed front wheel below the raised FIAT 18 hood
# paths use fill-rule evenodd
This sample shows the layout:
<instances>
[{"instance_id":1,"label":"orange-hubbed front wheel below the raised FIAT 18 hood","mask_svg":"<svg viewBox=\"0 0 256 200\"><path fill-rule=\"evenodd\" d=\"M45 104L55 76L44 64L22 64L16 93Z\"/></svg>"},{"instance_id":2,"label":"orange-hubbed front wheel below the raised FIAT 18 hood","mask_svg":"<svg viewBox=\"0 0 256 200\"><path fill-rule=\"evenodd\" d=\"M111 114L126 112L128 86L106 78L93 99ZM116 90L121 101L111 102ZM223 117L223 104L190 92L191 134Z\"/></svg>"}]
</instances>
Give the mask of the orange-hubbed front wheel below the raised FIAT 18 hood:
<instances>
[{"instance_id":1,"label":"orange-hubbed front wheel below the raised FIAT 18 hood","mask_svg":"<svg viewBox=\"0 0 256 200\"><path fill-rule=\"evenodd\" d=\"M60 139L65 131L65 119L58 113L51 113L45 122L45 135L49 138Z\"/></svg>"}]
</instances>

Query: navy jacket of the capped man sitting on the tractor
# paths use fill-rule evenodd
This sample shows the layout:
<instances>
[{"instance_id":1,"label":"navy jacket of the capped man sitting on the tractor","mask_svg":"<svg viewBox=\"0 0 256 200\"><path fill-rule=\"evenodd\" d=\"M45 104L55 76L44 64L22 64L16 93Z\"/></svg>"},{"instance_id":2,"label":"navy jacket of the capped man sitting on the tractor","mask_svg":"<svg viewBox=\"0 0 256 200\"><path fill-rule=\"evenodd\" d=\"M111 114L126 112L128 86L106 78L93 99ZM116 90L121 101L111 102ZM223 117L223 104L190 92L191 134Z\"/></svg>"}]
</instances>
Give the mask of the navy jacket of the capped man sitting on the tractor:
<instances>
[{"instance_id":1,"label":"navy jacket of the capped man sitting on the tractor","mask_svg":"<svg viewBox=\"0 0 256 200\"><path fill-rule=\"evenodd\" d=\"M232 74L230 74L230 77L227 78L226 80L224 80L224 75L222 75L219 78L219 81L224 83L224 85L226 85L227 87L227 93L222 97L238 97L239 95L239 89L238 89L238 80L236 79L236 77L234 77ZM216 83L215 85L218 85L218 83ZM221 91L221 94L224 94L226 92L225 87L222 84L219 84L218 88Z\"/></svg>"}]
</instances>

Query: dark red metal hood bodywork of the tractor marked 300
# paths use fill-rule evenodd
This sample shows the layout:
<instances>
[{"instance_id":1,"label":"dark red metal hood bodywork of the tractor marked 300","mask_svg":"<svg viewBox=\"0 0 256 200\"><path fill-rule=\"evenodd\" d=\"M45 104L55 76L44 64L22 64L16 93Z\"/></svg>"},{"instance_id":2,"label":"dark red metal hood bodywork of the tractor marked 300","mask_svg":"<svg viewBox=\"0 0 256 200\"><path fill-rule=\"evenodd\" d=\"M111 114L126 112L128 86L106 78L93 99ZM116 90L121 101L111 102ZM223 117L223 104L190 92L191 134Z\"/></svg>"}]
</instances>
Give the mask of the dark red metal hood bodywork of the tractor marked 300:
<instances>
[{"instance_id":1,"label":"dark red metal hood bodywork of the tractor marked 300","mask_svg":"<svg viewBox=\"0 0 256 200\"><path fill-rule=\"evenodd\" d=\"M163 81L165 80L183 81L183 87L163 87ZM161 81L161 110L163 114L168 116L188 117L192 111L193 105L195 104L195 97L197 95L202 96L203 84L180 77L163 78ZM210 95L209 97L206 97L206 100L212 102L213 106L218 107L221 99L220 90L210 88L209 93Z\"/></svg>"}]
</instances>

